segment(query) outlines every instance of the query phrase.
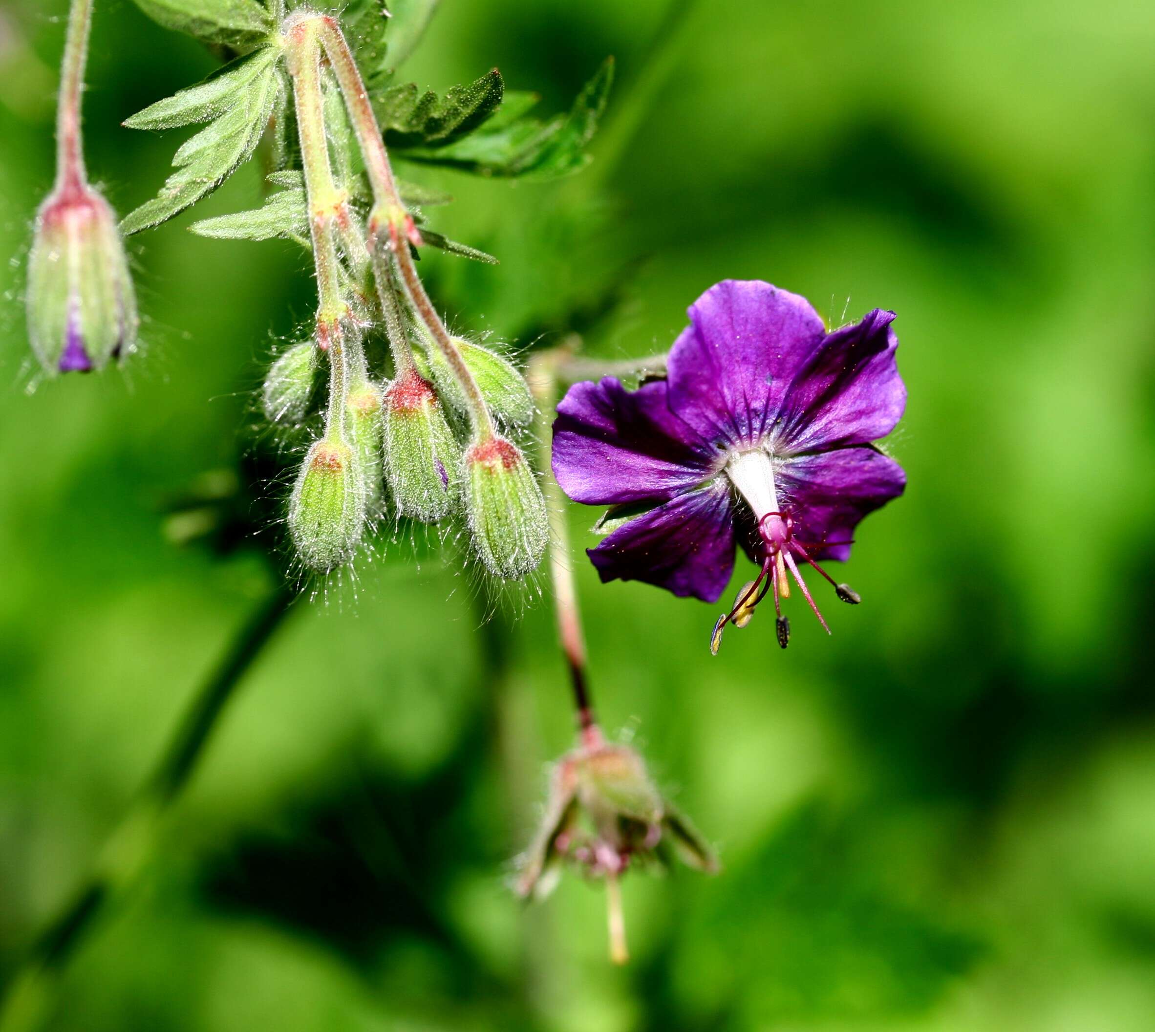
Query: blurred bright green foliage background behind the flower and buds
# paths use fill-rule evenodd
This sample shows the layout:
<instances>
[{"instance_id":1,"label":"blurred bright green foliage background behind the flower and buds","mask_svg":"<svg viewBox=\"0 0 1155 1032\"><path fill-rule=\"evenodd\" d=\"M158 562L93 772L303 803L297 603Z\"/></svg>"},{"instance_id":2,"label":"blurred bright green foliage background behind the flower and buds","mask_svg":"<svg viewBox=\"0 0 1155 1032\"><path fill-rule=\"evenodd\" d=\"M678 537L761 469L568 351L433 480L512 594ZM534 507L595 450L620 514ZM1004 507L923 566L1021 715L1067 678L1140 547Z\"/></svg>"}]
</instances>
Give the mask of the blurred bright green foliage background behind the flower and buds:
<instances>
[{"instance_id":1,"label":"blurred bright green foliage background behind the flower and buds","mask_svg":"<svg viewBox=\"0 0 1155 1032\"><path fill-rule=\"evenodd\" d=\"M292 245L185 215L131 244L147 352L24 389L65 8L0 2L0 980L276 581L275 524L222 557L163 510L255 465L253 391L314 303ZM403 175L501 259L431 255L439 303L515 346L662 350L725 277L899 313L910 487L860 528L866 604L833 637L799 611L789 652L755 619L711 659L714 609L575 559L604 722L723 874L629 877L624 970L595 888L522 908L509 859L572 734L549 606L485 623L452 549L387 541L293 608L50 1027L1153 1027L1155 8L748 0L676 3L672 30L666 8L444 0L404 67L423 86L497 65L550 113L616 55L601 161ZM97 5L88 159L121 213L184 134L120 121L215 66ZM260 192L246 168L198 216Z\"/></svg>"}]
</instances>

